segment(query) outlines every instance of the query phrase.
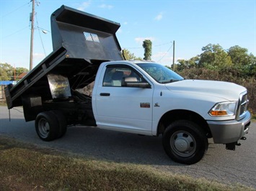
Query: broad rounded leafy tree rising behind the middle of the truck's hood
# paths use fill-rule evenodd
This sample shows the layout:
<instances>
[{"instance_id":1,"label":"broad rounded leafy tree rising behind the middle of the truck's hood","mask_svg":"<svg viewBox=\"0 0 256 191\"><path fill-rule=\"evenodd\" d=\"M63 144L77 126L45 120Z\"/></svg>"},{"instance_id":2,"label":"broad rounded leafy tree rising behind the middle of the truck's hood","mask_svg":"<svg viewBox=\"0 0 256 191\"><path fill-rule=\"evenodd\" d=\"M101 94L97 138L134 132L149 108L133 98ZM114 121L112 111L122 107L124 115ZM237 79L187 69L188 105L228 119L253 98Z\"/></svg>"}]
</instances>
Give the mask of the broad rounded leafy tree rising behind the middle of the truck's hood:
<instances>
[{"instance_id":1,"label":"broad rounded leafy tree rising behind the middle of the truck's hood","mask_svg":"<svg viewBox=\"0 0 256 191\"><path fill-rule=\"evenodd\" d=\"M202 50L203 53L200 55L200 61L198 63L200 67L218 70L232 65L231 57L219 44L208 44Z\"/></svg>"}]
</instances>

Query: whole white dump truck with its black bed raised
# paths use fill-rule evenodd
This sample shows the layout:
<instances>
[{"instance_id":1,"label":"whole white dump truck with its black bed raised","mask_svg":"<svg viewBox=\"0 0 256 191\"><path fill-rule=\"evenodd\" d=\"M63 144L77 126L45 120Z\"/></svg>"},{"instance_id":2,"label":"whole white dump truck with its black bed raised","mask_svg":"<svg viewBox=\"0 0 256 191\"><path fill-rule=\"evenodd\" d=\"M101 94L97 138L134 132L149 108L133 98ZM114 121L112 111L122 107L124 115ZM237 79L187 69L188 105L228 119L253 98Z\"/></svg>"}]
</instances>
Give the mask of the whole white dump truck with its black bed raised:
<instances>
[{"instance_id":1,"label":"whole white dump truck with its black bed raised","mask_svg":"<svg viewBox=\"0 0 256 191\"><path fill-rule=\"evenodd\" d=\"M51 27L53 52L5 89L8 108L23 106L40 139L58 139L76 124L162 136L167 155L183 164L200 161L210 138L230 150L246 139L246 88L124 60L120 24L67 6L53 12ZM79 91L91 83L92 95Z\"/></svg>"}]
</instances>

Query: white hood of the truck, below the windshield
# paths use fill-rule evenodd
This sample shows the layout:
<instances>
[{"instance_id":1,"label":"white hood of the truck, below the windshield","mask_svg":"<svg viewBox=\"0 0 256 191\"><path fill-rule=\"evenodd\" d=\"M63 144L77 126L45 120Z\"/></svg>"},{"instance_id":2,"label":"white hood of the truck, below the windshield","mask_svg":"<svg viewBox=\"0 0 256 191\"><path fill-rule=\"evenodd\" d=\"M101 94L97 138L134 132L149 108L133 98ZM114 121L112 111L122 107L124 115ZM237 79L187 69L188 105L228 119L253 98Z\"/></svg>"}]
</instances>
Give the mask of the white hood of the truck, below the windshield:
<instances>
[{"instance_id":1,"label":"white hood of the truck, below the windshield","mask_svg":"<svg viewBox=\"0 0 256 191\"><path fill-rule=\"evenodd\" d=\"M215 96L227 101L237 101L240 93L247 90L235 83L213 80L181 80L175 83L168 83L166 87L175 92Z\"/></svg>"}]
</instances>

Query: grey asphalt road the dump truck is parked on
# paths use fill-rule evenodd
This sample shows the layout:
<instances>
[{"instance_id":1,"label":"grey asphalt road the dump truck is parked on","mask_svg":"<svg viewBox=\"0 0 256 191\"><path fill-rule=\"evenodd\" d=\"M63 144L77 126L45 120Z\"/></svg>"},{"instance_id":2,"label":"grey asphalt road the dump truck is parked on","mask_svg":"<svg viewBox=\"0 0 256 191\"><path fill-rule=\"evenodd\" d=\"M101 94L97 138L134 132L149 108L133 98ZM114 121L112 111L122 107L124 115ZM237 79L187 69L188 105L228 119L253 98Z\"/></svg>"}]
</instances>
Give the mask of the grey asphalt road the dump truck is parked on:
<instances>
[{"instance_id":1,"label":"grey asphalt road the dump truck is parked on","mask_svg":"<svg viewBox=\"0 0 256 191\"><path fill-rule=\"evenodd\" d=\"M6 107L0 106L0 136L9 136L39 146L82 154L87 158L133 164L146 164L173 174L204 177L224 184L247 185L256 189L256 124L251 124L246 141L236 151L210 140L206 156L197 164L172 162L162 148L161 137L138 136L92 127L71 126L66 136L55 141L41 141L34 121L25 122L22 108L13 108L11 121Z\"/></svg>"}]
</instances>

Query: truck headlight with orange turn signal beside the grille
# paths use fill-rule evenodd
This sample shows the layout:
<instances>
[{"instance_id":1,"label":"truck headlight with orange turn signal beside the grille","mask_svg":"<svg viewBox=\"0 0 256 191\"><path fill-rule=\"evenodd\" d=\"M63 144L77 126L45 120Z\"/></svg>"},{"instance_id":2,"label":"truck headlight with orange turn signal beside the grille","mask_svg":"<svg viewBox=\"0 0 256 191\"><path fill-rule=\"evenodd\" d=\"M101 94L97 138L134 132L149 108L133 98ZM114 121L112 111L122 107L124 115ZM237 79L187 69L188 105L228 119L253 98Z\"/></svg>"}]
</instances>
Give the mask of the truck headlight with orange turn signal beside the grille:
<instances>
[{"instance_id":1,"label":"truck headlight with orange turn signal beside the grille","mask_svg":"<svg viewBox=\"0 0 256 191\"><path fill-rule=\"evenodd\" d=\"M217 103L209 111L210 116L221 117L221 116L234 116L236 113L236 101Z\"/></svg>"}]
</instances>

